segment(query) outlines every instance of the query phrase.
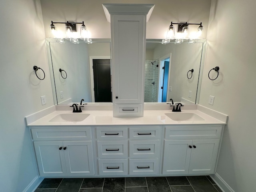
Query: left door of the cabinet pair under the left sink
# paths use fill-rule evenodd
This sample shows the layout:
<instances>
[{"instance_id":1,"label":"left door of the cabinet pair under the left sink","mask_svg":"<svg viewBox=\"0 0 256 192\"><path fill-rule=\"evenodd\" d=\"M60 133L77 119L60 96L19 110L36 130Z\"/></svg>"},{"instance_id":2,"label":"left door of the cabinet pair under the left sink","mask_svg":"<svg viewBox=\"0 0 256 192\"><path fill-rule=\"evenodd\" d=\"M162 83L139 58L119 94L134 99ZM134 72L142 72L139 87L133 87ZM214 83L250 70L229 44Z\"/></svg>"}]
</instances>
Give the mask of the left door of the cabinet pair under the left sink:
<instances>
[{"instance_id":1,"label":"left door of the cabinet pair under the left sink","mask_svg":"<svg viewBox=\"0 0 256 192\"><path fill-rule=\"evenodd\" d=\"M65 176L63 144L60 141L34 142L40 176Z\"/></svg>"}]
</instances>

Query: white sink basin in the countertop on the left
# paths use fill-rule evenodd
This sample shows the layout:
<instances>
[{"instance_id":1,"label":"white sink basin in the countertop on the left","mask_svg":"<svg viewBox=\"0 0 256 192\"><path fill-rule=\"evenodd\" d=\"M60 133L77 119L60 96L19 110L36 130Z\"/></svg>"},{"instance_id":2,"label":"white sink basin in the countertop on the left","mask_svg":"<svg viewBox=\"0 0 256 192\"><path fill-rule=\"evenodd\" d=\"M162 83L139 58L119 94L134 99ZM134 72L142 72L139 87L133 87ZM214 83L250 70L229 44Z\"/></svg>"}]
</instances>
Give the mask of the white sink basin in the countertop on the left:
<instances>
[{"instance_id":1,"label":"white sink basin in the countertop on the left","mask_svg":"<svg viewBox=\"0 0 256 192\"><path fill-rule=\"evenodd\" d=\"M79 122L85 120L90 114L86 113L64 113L58 114L49 122Z\"/></svg>"}]
</instances>

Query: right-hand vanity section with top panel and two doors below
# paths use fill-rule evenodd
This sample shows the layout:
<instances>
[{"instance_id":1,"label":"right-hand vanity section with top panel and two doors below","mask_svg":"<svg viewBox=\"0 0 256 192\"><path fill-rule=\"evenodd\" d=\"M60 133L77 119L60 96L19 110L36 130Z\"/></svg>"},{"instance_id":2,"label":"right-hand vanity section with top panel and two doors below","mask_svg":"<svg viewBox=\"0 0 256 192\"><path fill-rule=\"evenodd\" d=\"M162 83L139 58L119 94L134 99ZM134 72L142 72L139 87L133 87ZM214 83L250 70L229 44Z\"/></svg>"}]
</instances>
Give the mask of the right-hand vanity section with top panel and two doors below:
<instances>
[{"instance_id":1,"label":"right-hand vanity section with top panel and two doors below","mask_svg":"<svg viewBox=\"0 0 256 192\"><path fill-rule=\"evenodd\" d=\"M162 174L214 174L221 135L222 125L166 126Z\"/></svg>"}]
</instances>

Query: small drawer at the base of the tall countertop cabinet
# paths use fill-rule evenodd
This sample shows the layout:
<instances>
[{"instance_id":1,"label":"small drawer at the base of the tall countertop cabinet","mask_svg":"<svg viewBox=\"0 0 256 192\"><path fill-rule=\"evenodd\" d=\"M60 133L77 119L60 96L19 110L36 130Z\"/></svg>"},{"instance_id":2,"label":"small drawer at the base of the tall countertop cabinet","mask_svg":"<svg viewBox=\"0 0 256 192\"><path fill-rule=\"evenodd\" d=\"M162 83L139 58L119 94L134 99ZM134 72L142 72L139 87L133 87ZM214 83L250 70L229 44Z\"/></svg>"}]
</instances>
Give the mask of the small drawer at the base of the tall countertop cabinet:
<instances>
[{"instance_id":1,"label":"small drawer at the base of the tall countertop cabinet","mask_svg":"<svg viewBox=\"0 0 256 192\"><path fill-rule=\"evenodd\" d=\"M131 116L131 117L140 117L143 114L142 104L117 104L113 106L114 116L122 117L122 116Z\"/></svg>"}]
</instances>

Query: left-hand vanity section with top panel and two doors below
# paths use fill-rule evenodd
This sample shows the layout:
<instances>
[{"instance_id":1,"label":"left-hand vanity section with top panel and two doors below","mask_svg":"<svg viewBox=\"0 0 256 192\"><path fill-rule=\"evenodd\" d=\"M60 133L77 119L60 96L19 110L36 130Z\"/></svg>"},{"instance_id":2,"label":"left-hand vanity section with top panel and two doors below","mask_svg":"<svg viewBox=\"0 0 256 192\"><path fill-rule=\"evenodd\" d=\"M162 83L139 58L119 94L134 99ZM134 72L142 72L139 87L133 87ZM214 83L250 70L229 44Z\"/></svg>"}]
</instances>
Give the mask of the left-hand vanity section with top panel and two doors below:
<instances>
[{"instance_id":1,"label":"left-hand vanity section with top panel and two doors below","mask_svg":"<svg viewBox=\"0 0 256 192\"><path fill-rule=\"evenodd\" d=\"M91 128L31 128L40 176L94 175Z\"/></svg>"}]
</instances>

